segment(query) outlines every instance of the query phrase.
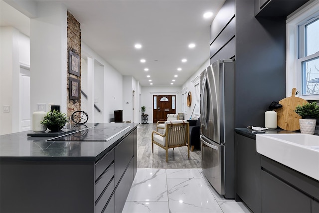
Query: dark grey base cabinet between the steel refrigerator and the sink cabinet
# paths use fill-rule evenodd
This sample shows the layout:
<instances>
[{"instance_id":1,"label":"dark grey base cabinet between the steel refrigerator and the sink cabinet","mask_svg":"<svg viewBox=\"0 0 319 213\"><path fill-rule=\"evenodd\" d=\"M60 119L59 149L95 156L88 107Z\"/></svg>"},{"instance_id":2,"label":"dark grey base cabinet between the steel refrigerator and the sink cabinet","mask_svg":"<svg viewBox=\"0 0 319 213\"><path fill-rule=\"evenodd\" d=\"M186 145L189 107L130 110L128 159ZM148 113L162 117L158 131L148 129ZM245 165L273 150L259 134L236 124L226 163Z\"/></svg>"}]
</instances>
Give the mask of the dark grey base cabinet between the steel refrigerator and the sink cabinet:
<instances>
[{"instance_id":1,"label":"dark grey base cabinet between the steel refrigerator and the sink cabinet","mask_svg":"<svg viewBox=\"0 0 319 213\"><path fill-rule=\"evenodd\" d=\"M235 136L235 193L254 213L261 212L260 154L256 139L236 133Z\"/></svg>"}]
</instances>

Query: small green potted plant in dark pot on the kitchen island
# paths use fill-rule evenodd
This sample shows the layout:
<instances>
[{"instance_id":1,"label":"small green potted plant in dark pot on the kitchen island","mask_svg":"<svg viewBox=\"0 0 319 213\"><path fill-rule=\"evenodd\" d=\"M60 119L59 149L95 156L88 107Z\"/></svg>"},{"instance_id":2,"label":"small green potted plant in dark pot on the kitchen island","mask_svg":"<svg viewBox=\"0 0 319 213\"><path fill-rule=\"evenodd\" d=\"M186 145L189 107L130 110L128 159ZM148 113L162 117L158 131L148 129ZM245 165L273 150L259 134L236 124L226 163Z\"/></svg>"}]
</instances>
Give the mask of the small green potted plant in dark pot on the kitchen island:
<instances>
[{"instance_id":1,"label":"small green potted plant in dark pot on the kitchen island","mask_svg":"<svg viewBox=\"0 0 319 213\"><path fill-rule=\"evenodd\" d=\"M45 125L51 132L58 132L66 124L67 119L65 113L57 110L49 111L44 116L41 124Z\"/></svg>"}]
</instances>

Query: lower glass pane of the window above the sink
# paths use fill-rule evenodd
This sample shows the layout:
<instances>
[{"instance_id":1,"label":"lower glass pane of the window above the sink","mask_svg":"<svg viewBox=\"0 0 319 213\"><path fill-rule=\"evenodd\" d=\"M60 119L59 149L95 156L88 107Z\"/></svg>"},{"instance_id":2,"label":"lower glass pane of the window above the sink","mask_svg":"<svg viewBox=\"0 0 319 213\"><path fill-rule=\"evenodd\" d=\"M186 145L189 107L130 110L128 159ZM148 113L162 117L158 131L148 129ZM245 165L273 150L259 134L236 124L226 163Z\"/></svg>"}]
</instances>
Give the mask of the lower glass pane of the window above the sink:
<instances>
[{"instance_id":1,"label":"lower glass pane of the window above the sink","mask_svg":"<svg viewBox=\"0 0 319 213\"><path fill-rule=\"evenodd\" d=\"M319 94L319 57L302 62L302 94Z\"/></svg>"}]
</instances>

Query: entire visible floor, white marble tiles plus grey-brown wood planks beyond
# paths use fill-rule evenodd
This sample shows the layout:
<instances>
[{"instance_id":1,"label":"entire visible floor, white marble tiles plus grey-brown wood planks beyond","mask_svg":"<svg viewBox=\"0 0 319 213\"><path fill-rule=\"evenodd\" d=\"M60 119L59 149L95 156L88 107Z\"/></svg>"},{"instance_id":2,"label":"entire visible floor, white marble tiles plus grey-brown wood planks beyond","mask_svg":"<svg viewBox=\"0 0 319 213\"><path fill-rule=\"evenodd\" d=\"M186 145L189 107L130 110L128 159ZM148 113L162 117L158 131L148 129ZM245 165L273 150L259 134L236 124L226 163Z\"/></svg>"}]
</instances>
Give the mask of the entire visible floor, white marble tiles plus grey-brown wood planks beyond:
<instances>
[{"instance_id":1,"label":"entire visible floor, white marble tiles plus grey-brown wood planks beyond","mask_svg":"<svg viewBox=\"0 0 319 213\"><path fill-rule=\"evenodd\" d=\"M242 202L226 200L203 177L201 152L154 146L156 124L138 127L138 171L122 213L250 213Z\"/></svg>"}]
</instances>

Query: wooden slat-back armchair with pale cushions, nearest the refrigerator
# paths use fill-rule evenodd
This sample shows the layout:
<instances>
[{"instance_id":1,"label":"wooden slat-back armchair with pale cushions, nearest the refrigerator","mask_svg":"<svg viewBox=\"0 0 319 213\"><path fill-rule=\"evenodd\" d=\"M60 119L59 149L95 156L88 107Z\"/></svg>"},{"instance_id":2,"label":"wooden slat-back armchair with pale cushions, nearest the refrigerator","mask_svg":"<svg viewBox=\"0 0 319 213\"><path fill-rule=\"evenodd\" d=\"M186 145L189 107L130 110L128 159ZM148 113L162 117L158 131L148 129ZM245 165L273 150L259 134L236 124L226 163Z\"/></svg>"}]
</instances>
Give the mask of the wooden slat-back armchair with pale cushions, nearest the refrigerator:
<instances>
[{"instance_id":1,"label":"wooden slat-back armchair with pale cushions, nearest the refrigerator","mask_svg":"<svg viewBox=\"0 0 319 213\"><path fill-rule=\"evenodd\" d=\"M154 144L166 150L166 162L168 160L168 149L187 146L189 159L189 123L186 120L165 121L163 134L152 132L152 153Z\"/></svg>"}]
</instances>

